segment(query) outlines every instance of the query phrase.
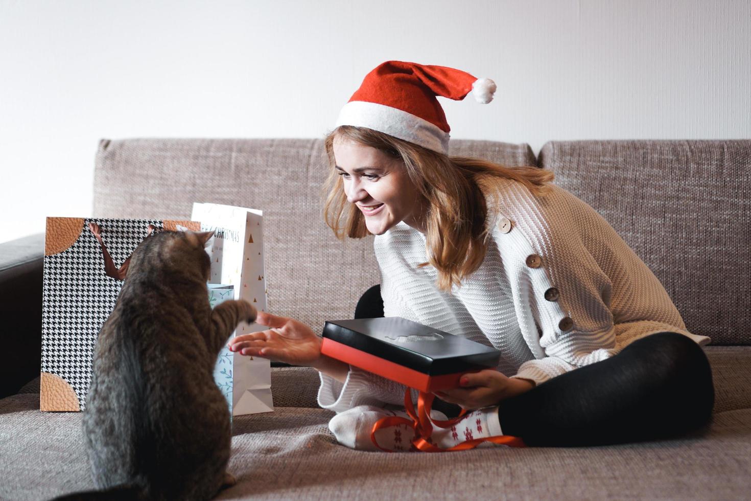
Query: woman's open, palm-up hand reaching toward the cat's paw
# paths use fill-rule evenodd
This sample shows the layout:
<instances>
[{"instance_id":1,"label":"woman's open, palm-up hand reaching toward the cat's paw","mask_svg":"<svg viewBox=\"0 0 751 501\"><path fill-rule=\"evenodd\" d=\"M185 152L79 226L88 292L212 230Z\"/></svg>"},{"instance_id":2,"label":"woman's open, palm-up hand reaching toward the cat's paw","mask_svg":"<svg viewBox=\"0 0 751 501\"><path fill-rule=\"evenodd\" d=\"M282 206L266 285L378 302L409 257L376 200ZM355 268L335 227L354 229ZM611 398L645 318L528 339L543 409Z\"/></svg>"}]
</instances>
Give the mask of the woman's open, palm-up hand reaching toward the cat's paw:
<instances>
[{"instance_id":1,"label":"woman's open, palm-up hand reaching toward the cat's paw","mask_svg":"<svg viewBox=\"0 0 751 501\"><path fill-rule=\"evenodd\" d=\"M231 352L293 365L312 366L321 358L321 338L306 324L267 312L258 312L255 322L271 328L231 338Z\"/></svg>"}]
</instances>

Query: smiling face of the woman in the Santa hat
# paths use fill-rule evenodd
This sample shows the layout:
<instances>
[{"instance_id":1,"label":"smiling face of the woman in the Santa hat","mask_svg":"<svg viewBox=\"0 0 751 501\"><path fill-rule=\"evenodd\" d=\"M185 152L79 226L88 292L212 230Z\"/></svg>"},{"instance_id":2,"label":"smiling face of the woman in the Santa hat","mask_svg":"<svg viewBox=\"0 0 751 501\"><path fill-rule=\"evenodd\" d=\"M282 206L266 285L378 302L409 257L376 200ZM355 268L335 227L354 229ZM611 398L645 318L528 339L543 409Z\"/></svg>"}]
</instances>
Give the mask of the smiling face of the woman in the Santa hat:
<instances>
[{"instance_id":1,"label":"smiling face of the woman in the Santa hat","mask_svg":"<svg viewBox=\"0 0 751 501\"><path fill-rule=\"evenodd\" d=\"M333 155L347 200L363 213L370 233L385 234L402 221L425 233L422 197L403 161L339 137L333 140Z\"/></svg>"}]
</instances>

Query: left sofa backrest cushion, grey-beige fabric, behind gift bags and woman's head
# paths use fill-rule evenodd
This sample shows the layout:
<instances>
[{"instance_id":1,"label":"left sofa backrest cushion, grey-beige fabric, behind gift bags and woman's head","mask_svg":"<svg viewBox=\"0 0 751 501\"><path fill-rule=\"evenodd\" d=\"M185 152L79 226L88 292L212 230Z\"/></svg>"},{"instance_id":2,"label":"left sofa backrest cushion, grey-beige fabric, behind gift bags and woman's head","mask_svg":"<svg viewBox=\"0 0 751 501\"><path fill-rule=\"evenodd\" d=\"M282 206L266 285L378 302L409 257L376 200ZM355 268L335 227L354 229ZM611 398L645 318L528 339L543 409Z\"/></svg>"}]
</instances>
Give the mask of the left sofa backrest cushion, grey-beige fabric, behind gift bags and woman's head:
<instances>
[{"instance_id":1,"label":"left sofa backrest cushion, grey-beige fabric, behind gift bags and woman's head","mask_svg":"<svg viewBox=\"0 0 751 501\"><path fill-rule=\"evenodd\" d=\"M452 140L450 154L535 164L526 144ZM263 210L269 311L321 332L381 282L372 236L342 242L324 222L327 171L321 139L101 140L94 216L186 219L194 201Z\"/></svg>"}]
</instances>

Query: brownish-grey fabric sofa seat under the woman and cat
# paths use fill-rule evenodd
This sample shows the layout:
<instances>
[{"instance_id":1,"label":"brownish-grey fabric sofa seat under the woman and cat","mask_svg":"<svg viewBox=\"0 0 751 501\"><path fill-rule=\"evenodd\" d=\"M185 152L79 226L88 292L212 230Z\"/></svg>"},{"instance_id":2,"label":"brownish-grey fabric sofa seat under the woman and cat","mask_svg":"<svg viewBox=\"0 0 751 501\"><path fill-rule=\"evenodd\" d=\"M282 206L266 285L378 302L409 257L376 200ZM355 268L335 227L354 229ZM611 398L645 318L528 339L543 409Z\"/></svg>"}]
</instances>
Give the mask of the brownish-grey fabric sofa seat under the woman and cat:
<instances>
[{"instance_id":1,"label":"brownish-grey fabric sofa seat under the woman and cat","mask_svg":"<svg viewBox=\"0 0 751 501\"><path fill-rule=\"evenodd\" d=\"M751 346L705 350L715 409L711 423L689 436L446 454L338 445L327 427L333 412L315 408L318 373L275 367L276 410L234 418L229 469L237 485L217 499L747 499ZM0 499L48 499L93 487L81 414L40 412L38 388L36 379L0 400Z\"/></svg>"}]
</instances>

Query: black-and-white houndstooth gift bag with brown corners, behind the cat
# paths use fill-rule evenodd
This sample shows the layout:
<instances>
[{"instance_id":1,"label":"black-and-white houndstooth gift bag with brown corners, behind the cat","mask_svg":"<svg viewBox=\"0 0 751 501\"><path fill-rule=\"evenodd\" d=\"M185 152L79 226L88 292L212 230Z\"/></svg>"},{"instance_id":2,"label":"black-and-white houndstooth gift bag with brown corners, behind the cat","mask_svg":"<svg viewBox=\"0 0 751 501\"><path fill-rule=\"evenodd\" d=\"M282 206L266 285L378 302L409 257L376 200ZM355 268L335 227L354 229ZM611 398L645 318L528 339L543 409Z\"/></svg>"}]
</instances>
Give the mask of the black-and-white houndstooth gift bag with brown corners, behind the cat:
<instances>
[{"instance_id":1,"label":"black-and-white houndstooth gift bag with brown corners, behind the cat","mask_svg":"<svg viewBox=\"0 0 751 501\"><path fill-rule=\"evenodd\" d=\"M178 226L201 230L189 221L47 218L41 410L85 409L96 339L115 307L131 254L153 231Z\"/></svg>"}]
</instances>

